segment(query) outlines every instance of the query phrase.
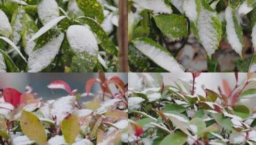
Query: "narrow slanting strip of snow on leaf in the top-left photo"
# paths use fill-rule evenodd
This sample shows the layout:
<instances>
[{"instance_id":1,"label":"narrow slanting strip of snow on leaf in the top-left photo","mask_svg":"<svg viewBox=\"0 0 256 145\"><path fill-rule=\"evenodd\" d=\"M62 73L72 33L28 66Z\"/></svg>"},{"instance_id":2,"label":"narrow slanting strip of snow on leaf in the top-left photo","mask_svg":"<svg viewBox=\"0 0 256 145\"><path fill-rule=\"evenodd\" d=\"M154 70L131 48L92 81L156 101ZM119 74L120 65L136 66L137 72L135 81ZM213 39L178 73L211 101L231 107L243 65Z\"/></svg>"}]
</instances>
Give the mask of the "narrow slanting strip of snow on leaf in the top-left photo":
<instances>
[{"instance_id":1,"label":"narrow slanting strip of snow on leaf in the top-left photo","mask_svg":"<svg viewBox=\"0 0 256 145\"><path fill-rule=\"evenodd\" d=\"M46 23L45 26L42 27L39 31L37 31L28 42L34 41L35 39L39 38L46 31L52 29L59 21L63 20L64 18L66 18L66 16L60 16L60 17L57 17L54 20L49 21L48 23Z\"/></svg>"}]
</instances>

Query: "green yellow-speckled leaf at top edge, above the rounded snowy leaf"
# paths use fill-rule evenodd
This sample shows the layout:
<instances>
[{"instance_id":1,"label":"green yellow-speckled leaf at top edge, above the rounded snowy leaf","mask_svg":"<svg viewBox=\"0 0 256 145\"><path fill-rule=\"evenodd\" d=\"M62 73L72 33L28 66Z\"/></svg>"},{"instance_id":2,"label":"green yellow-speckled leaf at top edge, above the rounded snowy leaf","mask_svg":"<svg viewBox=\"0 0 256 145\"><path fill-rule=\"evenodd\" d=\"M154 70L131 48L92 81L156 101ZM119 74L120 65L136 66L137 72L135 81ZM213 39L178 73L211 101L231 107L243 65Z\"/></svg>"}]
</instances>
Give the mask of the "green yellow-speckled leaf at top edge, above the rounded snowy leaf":
<instances>
[{"instance_id":1,"label":"green yellow-speckled leaf at top edge, above the rounded snowy leaf","mask_svg":"<svg viewBox=\"0 0 256 145\"><path fill-rule=\"evenodd\" d=\"M84 15L92 19L97 19L99 23L104 20L103 9L97 0L77 0L78 7L84 12Z\"/></svg>"}]
</instances>

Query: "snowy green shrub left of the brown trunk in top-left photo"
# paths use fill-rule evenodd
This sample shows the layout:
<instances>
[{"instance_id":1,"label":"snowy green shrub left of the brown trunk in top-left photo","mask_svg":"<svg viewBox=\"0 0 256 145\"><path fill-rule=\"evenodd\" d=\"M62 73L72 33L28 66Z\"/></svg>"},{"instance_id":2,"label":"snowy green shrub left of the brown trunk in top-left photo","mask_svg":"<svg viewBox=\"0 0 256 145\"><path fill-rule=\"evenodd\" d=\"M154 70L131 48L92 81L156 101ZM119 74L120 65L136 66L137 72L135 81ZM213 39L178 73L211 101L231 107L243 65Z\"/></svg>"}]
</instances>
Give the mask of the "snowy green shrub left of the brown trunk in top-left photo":
<instances>
[{"instance_id":1,"label":"snowy green shrub left of the brown trunk in top-left photo","mask_svg":"<svg viewBox=\"0 0 256 145\"><path fill-rule=\"evenodd\" d=\"M117 72L117 0L0 0L0 72Z\"/></svg>"}]
</instances>

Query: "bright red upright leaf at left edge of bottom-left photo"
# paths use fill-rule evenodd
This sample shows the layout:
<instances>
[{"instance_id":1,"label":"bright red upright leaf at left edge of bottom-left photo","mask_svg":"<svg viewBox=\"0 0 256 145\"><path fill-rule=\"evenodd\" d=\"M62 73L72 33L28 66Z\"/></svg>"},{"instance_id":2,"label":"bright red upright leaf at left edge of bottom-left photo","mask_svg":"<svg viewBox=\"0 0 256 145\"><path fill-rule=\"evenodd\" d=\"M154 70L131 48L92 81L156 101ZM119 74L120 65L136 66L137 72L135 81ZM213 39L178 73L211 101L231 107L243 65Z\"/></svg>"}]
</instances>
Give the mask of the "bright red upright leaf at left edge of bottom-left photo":
<instances>
[{"instance_id":1,"label":"bright red upright leaf at left edge of bottom-left photo","mask_svg":"<svg viewBox=\"0 0 256 145\"><path fill-rule=\"evenodd\" d=\"M17 107L20 104L21 95L22 93L20 93L15 89L12 89L12 88L3 89L4 101L11 103L14 107Z\"/></svg>"}]
</instances>

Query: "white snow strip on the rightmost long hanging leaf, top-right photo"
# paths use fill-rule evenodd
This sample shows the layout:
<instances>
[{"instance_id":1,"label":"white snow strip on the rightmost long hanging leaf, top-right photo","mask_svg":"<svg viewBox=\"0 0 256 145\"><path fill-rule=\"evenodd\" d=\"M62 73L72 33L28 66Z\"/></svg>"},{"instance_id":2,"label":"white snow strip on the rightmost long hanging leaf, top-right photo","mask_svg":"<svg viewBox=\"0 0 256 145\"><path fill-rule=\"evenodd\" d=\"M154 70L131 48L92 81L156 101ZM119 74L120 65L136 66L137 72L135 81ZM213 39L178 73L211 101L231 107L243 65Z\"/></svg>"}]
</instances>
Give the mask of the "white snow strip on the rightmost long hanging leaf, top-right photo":
<instances>
[{"instance_id":1,"label":"white snow strip on the rightmost long hanging leaf, top-right photo","mask_svg":"<svg viewBox=\"0 0 256 145\"><path fill-rule=\"evenodd\" d=\"M226 34L227 39L234 49L240 56L242 55L243 45L241 44L238 35L235 31L235 23L233 20L233 10L230 7L227 7L225 10L225 20L226 20Z\"/></svg>"}]
</instances>

